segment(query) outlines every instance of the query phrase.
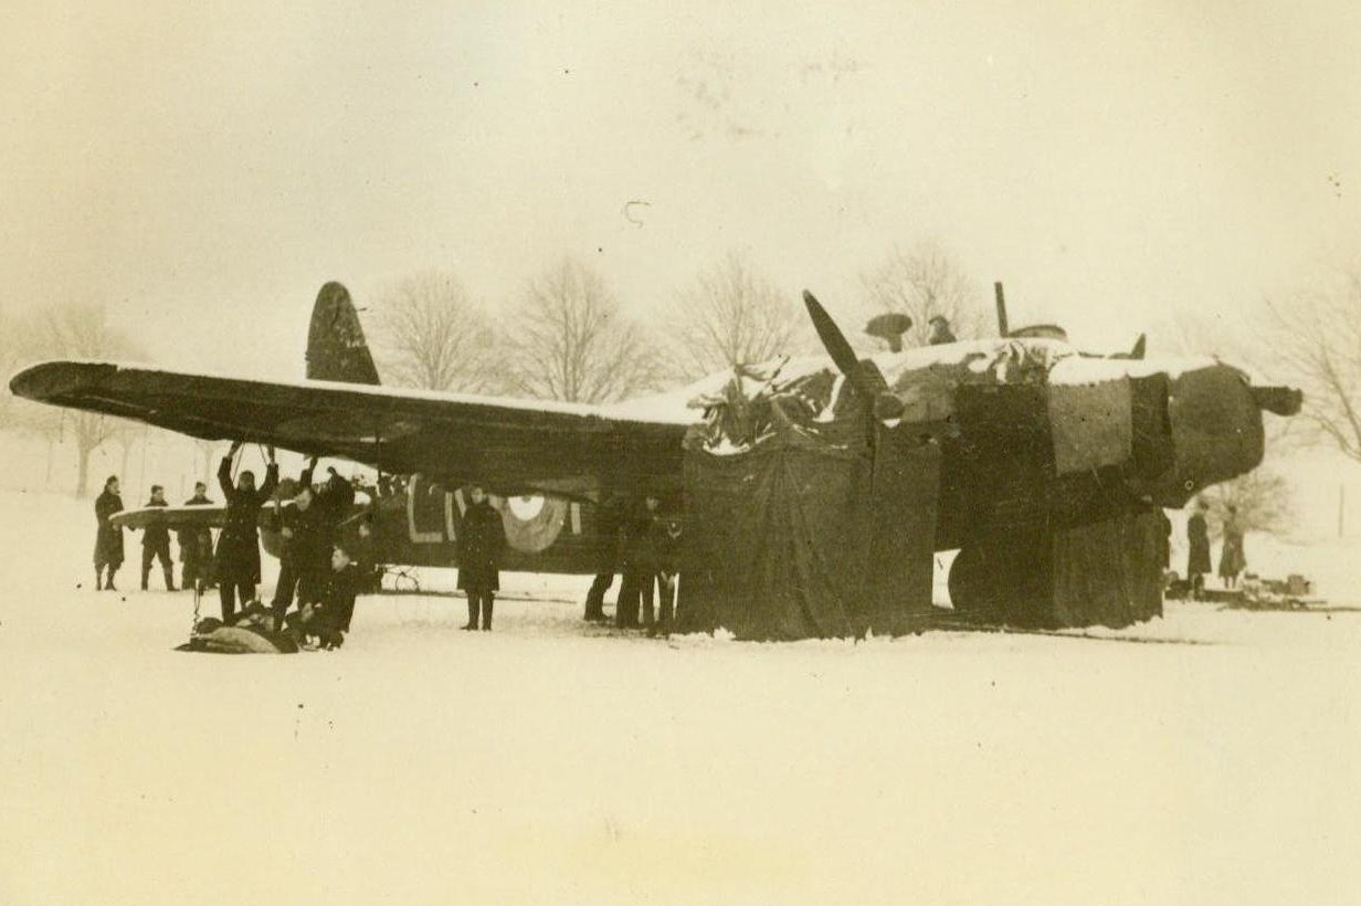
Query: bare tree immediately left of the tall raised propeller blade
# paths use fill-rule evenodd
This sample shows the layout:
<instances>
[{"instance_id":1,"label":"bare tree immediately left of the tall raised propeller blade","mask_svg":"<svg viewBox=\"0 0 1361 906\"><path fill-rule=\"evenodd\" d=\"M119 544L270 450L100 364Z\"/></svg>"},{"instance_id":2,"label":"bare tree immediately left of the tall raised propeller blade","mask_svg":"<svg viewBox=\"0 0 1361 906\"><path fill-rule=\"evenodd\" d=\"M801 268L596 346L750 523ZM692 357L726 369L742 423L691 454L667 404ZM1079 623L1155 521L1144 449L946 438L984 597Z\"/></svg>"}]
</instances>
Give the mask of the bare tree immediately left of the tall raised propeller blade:
<instances>
[{"instance_id":1,"label":"bare tree immediately left of the tall raised propeller blade","mask_svg":"<svg viewBox=\"0 0 1361 906\"><path fill-rule=\"evenodd\" d=\"M811 352L802 309L736 252L682 291L663 324L670 367L680 380Z\"/></svg>"}]
</instances>

